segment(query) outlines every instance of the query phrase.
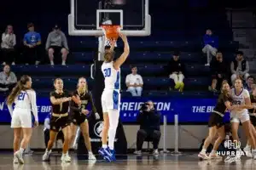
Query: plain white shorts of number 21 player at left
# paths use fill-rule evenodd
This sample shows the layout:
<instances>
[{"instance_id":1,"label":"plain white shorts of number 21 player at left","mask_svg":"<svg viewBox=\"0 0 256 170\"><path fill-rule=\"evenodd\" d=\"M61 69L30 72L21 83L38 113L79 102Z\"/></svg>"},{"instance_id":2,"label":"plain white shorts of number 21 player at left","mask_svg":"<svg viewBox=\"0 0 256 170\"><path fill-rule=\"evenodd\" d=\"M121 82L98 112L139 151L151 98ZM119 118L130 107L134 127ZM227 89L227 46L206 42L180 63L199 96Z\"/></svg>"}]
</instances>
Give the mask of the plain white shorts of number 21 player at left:
<instances>
[{"instance_id":1,"label":"plain white shorts of number 21 player at left","mask_svg":"<svg viewBox=\"0 0 256 170\"><path fill-rule=\"evenodd\" d=\"M30 109L15 108L11 122L12 128L32 127L32 112Z\"/></svg>"}]
</instances>

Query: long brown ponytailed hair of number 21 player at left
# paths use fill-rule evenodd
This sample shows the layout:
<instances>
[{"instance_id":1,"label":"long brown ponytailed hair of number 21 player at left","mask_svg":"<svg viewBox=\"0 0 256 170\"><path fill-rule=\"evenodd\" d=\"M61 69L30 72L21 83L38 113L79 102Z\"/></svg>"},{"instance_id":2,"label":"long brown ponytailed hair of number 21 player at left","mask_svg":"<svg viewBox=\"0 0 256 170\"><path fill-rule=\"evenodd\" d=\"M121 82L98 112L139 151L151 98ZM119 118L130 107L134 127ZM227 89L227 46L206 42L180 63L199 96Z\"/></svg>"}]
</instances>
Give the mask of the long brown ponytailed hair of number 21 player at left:
<instances>
[{"instance_id":1,"label":"long brown ponytailed hair of number 21 player at left","mask_svg":"<svg viewBox=\"0 0 256 170\"><path fill-rule=\"evenodd\" d=\"M28 88L25 87L26 82L30 80L30 77L27 75L23 75L20 77L20 81L17 82L15 88L13 88L11 94L7 97L7 104L12 105L15 101L15 98L20 94L20 91L26 90Z\"/></svg>"}]
</instances>

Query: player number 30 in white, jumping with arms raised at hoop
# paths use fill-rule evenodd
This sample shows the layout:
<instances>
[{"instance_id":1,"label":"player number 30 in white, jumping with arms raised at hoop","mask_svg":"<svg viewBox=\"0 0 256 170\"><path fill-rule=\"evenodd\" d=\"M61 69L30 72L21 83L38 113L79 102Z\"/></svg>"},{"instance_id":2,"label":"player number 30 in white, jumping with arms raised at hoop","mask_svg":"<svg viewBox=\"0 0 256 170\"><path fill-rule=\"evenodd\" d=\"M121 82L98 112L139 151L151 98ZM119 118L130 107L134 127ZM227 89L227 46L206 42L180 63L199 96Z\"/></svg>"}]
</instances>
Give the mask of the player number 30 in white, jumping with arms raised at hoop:
<instances>
[{"instance_id":1,"label":"player number 30 in white, jumping with arms raised at hoop","mask_svg":"<svg viewBox=\"0 0 256 170\"><path fill-rule=\"evenodd\" d=\"M115 161L113 150L116 129L119 124L119 102L120 102L120 66L130 54L129 43L124 34L119 34L124 42L124 53L119 59L113 61L113 48L115 42L111 42L111 48L104 54L102 73L105 78L105 88L102 93L102 112L104 127L102 129L102 148L99 154L107 161ZM107 145L108 139L108 145Z\"/></svg>"}]
</instances>

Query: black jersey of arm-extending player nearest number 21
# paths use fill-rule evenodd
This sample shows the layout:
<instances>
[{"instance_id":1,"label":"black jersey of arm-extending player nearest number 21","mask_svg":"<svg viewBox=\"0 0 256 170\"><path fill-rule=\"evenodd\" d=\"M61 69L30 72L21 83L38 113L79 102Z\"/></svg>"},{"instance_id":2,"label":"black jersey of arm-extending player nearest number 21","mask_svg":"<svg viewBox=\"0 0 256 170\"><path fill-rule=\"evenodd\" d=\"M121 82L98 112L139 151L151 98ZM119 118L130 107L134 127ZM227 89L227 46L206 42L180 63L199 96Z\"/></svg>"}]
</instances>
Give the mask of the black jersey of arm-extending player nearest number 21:
<instances>
[{"instance_id":1,"label":"black jersey of arm-extending player nearest number 21","mask_svg":"<svg viewBox=\"0 0 256 170\"><path fill-rule=\"evenodd\" d=\"M51 92L49 94L50 97L55 97L55 99L61 99L61 98L69 98L71 95L67 91L63 91L61 94L57 94L55 91ZM68 112L68 107L69 107L69 101L63 102L59 105L53 105L52 106L52 112L55 114L65 114Z\"/></svg>"}]
</instances>

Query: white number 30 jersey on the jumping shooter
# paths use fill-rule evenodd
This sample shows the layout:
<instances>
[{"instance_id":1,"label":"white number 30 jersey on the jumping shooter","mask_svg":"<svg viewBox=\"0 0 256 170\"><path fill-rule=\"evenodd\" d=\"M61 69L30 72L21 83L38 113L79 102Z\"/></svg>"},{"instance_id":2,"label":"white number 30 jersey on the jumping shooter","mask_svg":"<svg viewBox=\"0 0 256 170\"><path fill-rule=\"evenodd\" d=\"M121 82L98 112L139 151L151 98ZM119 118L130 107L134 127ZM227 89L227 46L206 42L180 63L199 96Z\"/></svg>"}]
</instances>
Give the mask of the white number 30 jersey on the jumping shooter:
<instances>
[{"instance_id":1,"label":"white number 30 jersey on the jumping shooter","mask_svg":"<svg viewBox=\"0 0 256 170\"><path fill-rule=\"evenodd\" d=\"M102 64L102 73L105 78L104 90L119 90L120 89L120 71L113 68L113 61Z\"/></svg>"}]
</instances>

